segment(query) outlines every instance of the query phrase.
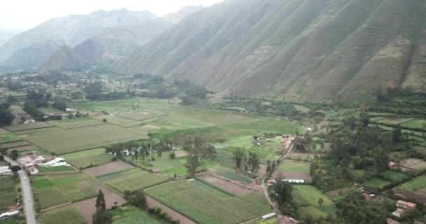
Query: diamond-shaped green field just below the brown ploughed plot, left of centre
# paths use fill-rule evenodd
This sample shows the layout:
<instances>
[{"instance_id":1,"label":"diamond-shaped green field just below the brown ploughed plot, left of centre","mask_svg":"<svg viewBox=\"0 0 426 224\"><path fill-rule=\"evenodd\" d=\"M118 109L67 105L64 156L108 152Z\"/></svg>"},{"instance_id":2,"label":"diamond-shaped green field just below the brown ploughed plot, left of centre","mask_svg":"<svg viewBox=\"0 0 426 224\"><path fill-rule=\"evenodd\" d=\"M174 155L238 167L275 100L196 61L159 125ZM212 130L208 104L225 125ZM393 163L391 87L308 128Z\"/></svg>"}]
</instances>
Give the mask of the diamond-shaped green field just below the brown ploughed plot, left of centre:
<instances>
[{"instance_id":1,"label":"diamond-shaped green field just below the brown ploughed plot, left of centre","mask_svg":"<svg viewBox=\"0 0 426 224\"><path fill-rule=\"evenodd\" d=\"M144 172L139 168L128 169L123 172L107 174L104 176L97 176L97 180L120 191L121 193L124 193L125 190L135 191L149 188L167 181L167 179L161 176Z\"/></svg>"}]
</instances>

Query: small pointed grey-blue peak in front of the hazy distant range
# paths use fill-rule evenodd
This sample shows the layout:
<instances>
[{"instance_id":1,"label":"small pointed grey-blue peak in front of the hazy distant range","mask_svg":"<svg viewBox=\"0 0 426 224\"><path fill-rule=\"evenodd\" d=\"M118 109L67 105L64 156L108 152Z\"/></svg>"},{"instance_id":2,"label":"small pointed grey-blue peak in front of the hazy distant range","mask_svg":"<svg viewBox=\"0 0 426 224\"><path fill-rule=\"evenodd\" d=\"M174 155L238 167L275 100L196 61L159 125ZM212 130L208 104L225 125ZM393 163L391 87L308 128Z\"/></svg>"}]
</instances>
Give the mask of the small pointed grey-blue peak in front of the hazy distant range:
<instances>
[{"instance_id":1,"label":"small pointed grey-blue peak in front of the hazy distant range","mask_svg":"<svg viewBox=\"0 0 426 224\"><path fill-rule=\"evenodd\" d=\"M67 45L62 45L53 53L52 57L40 66L41 71L48 70L79 70L89 66L89 62L76 54Z\"/></svg>"}]
</instances>

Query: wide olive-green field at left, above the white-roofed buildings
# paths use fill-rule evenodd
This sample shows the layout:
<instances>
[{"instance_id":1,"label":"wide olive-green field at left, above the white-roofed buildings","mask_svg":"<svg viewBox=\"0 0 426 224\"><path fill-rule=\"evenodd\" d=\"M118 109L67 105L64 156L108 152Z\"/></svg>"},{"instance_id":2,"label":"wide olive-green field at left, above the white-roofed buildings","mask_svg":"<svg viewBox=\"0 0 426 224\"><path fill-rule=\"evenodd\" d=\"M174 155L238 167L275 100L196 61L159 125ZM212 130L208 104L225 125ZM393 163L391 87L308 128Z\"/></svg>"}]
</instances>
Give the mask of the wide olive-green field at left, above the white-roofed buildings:
<instances>
[{"instance_id":1,"label":"wide olive-green field at left, above the white-roofed buildings","mask_svg":"<svg viewBox=\"0 0 426 224\"><path fill-rule=\"evenodd\" d=\"M24 137L32 144L58 155L87 148L147 138L116 125L95 125L57 132L32 133Z\"/></svg>"}]
</instances>

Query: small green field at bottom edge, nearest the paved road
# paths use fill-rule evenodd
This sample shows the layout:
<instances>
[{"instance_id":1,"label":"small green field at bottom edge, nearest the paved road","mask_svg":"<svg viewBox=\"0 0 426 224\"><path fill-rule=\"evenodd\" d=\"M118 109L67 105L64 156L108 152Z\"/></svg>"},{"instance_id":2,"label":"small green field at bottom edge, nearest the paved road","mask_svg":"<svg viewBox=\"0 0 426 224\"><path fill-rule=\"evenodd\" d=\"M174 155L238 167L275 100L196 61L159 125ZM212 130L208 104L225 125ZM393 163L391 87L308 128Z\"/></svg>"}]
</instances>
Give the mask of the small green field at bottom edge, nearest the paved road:
<instances>
[{"instance_id":1,"label":"small green field at bottom edge, nearest the paved road","mask_svg":"<svg viewBox=\"0 0 426 224\"><path fill-rule=\"evenodd\" d=\"M85 224L84 218L76 209L65 209L60 211L48 211L41 216L43 224Z\"/></svg>"}]
</instances>

